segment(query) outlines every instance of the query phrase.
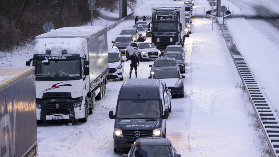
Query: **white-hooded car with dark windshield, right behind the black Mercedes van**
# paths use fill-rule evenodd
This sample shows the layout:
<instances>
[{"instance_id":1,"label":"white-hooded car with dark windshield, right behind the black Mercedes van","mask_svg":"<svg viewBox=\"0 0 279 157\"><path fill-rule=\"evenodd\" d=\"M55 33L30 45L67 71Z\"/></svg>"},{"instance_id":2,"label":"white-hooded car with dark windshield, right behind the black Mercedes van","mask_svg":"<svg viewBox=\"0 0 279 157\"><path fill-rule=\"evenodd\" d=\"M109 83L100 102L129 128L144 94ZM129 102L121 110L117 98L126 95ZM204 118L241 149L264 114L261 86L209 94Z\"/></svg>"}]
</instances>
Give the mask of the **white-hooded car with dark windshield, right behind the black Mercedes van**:
<instances>
[{"instance_id":1,"label":"white-hooded car with dark windshield, right behind the black Mercedes van","mask_svg":"<svg viewBox=\"0 0 279 157\"><path fill-rule=\"evenodd\" d=\"M153 76L148 78L164 81L172 96L184 97L183 78L185 76L181 75L179 71L179 67L156 67Z\"/></svg>"}]
</instances>

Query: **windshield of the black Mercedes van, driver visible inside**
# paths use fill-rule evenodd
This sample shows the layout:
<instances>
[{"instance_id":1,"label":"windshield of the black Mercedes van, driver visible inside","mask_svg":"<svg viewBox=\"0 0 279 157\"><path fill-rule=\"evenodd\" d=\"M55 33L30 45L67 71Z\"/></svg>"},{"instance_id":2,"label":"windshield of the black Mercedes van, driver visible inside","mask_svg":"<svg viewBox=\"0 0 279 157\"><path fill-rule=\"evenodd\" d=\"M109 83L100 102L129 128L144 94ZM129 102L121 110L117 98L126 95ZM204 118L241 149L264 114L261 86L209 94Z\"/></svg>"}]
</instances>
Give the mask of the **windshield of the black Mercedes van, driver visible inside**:
<instances>
[{"instance_id":1,"label":"windshield of the black Mercedes van, driver visible inside","mask_svg":"<svg viewBox=\"0 0 279 157\"><path fill-rule=\"evenodd\" d=\"M119 100L117 118L160 118L158 100Z\"/></svg>"}]
</instances>

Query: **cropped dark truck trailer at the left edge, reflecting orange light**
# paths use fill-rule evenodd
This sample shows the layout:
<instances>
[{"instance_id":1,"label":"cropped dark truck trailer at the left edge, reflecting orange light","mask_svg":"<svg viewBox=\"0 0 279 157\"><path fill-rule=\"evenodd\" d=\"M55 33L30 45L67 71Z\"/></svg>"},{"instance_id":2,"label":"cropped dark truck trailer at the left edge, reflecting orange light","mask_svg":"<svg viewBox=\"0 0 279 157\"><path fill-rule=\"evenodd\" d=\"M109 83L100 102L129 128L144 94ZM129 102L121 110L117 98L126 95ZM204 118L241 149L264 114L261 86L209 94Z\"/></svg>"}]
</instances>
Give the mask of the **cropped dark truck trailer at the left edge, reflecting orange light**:
<instances>
[{"instance_id":1,"label":"cropped dark truck trailer at the left edge, reflecting orange light","mask_svg":"<svg viewBox=\"0 0 279 157\"><path fill-rule=\"evenodd\" d=\"M0 155L38 155L35 68L0 68Z\"/></svg>"}]
</instances>

